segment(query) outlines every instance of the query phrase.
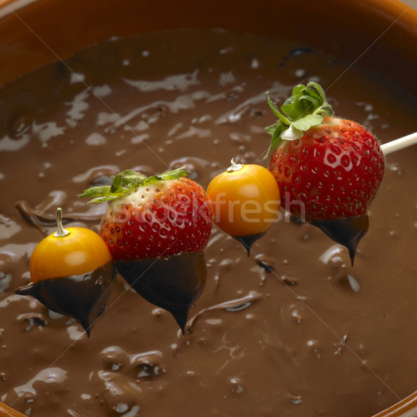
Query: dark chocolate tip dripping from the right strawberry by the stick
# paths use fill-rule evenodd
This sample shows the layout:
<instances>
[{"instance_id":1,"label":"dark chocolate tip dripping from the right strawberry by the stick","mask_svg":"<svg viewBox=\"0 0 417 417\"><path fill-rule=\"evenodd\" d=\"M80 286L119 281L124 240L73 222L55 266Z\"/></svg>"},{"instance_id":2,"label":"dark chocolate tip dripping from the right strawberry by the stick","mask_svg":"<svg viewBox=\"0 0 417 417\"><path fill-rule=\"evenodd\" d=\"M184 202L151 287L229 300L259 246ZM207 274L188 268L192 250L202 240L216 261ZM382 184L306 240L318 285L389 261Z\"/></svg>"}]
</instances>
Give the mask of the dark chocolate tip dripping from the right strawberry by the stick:
<instances>
[{"instance_id":1,"label":"dark chocolate tip dripping from the right strawberry by the stick","mask_svg":"<svg viewBox=\"0 0 417 417\"><path fill-rule=\"evenodd\" d=\"M312 222L311 224L324 231L335 242L347 247L353 266L359 241L366 235L369 228L368 215L357 215L338 220L320 220L320 222Z\"/></svg>"}]
</instances>

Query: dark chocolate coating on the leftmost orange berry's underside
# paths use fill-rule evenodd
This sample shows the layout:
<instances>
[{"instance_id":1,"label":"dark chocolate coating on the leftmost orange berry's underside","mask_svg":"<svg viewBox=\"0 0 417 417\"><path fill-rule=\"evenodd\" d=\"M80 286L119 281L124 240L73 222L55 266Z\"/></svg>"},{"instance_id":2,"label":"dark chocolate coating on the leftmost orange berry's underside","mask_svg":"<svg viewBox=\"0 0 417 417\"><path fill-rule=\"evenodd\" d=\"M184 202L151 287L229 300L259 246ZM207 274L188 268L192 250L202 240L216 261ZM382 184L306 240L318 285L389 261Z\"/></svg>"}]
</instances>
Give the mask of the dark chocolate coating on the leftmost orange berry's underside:
<instances>
[{"instance_id":1,"label":"dark chocolate coating on the leftmost orange berry's underside","mask_svg":"<svg viewBox=\"0 0 417 417\"><path fill-rule=\"evenodd\" d=\"M92 272L31 282L17 288L19 295L31 295L56 313L78 320L87 336L104 313L113 290L115 271L111 262Z\"/></svg>"}]
</instances>

